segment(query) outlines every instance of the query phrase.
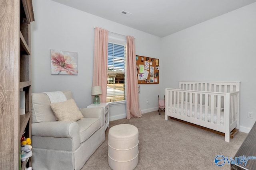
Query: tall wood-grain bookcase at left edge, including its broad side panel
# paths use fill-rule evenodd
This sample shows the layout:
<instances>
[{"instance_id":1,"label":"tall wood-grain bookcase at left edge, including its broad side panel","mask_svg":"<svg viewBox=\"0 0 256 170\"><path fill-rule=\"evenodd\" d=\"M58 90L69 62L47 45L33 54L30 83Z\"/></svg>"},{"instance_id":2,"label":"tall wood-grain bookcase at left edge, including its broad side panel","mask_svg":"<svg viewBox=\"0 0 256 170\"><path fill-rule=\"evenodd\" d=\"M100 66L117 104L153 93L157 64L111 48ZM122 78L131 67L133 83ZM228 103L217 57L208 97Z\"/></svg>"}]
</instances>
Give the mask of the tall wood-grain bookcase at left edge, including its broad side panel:
<instances>
[{"instance_id":1,"label":"tall wood-grain bookcase at left edge, including its broad side panel","mask_svg":"<svg viewBox=\"0 0 256 170\"><path fill-rule=\"evenodd\" d=\"M20 139L24 131L31 137L32 0L2 0L0 16L0 165L24 170L31 166L31 159L20 162ZM19 115L20 91L24 115Z\"/></svg>"}]
</instances>

